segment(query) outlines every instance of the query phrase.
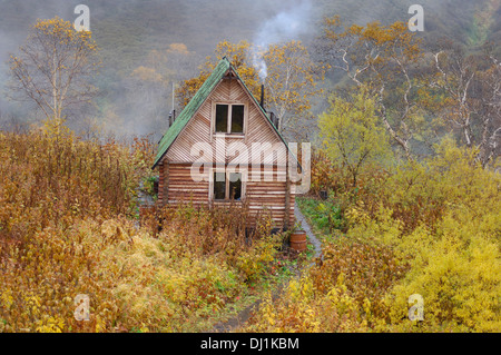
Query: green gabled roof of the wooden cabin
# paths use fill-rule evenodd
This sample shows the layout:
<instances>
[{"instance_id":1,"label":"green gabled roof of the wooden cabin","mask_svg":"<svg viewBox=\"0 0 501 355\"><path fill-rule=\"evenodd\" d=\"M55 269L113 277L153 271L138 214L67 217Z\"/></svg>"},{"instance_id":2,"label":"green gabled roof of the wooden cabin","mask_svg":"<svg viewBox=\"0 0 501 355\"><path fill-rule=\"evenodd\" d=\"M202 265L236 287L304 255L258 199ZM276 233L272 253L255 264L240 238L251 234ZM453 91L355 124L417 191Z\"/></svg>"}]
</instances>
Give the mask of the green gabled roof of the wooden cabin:
<instances>
[{"instance_id":1,"label":"green gabled roof of the wooden cabin","mask_svg":"<svg viewBox=\"0 0 501 355\"><path fill-rule=\"evenodd\" d=\"M191 100L186 105L186 107L183 109L183 111L179 114L179 116L174 121L173 126L169 127L169 129L166 131L164 137L161 137L159 144L158 144L158 152L155 158L155 164L153 165L151 169L154 169L158 162L160 162L161 158L166 155L169 147L173 145L174 140L176 140L177 136L180 134L183 128L188 124L188 121L191 119L191 117L198 111L200 106L205 102L205 100L208 98L210 92L214 90L214 88L219 83L219 81L223 79L225 73L232 69L232 63L226 57L223 57L223 59L219 61L219 63L216 66L216 68L213 70L210 76L205 80L205 82L202 85L202 87L198 89L198 91L195 93L195 96L191 98ZM264 110L264 108L257 102L256 98L252 95L250 90L247 88L245 82L240 79L238 76L238 72L236 70L233 71L237 79L244 85L245 89L248 91L249 96L253 98L254 102L257 105L257 107L261 109L261 111L264 114L268 122L272 125L275 132L278 135L278 137L282 139L282 141L285 144L285 147L287 147L287 150L291 152L291 155L296 159L295 155L289 150L287 142L282 137L279 131L276 129L275 125L269 119L268 115ZM301 167L299 162L297 161L297 165Z\"/></svg>"}]
</instances>

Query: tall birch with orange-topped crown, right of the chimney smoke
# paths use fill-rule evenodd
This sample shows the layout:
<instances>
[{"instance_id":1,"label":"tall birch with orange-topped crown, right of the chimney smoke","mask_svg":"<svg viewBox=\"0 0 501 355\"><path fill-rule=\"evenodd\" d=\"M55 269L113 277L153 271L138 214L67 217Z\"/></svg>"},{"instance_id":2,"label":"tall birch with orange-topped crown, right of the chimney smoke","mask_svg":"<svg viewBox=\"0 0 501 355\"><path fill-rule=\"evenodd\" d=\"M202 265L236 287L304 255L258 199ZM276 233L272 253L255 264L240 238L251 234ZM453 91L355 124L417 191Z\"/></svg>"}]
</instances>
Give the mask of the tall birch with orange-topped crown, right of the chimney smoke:
<instances>
[{"instance_id":1,"label":"tall birch with orange-topped crown, right of the chimney smoke","mask_svg":"<svg viewBox=\"0 0 501 355\"><path fill-rule=\"evenodd\" d=\"M362 27L345 26L338 17L326 18L317 52L354 85L372 89L381 124L405 157L412 159L410 141L419 128L414 121L419 106L413 96L420 80L414 73L422 58L415 33L403 22Z\"/></svg>"}]
</instances>

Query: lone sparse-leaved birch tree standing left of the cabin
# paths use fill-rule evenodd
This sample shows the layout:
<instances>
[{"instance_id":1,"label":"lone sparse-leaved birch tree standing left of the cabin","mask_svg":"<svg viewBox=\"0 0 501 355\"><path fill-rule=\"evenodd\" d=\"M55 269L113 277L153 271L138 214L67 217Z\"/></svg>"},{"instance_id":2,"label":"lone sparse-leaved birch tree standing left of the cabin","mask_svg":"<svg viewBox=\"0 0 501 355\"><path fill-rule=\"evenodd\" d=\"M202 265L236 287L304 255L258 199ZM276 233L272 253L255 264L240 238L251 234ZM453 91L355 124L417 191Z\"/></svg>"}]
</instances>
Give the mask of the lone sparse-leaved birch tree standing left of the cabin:
<instances>
[{"instance_id":1,"label":"lone sparse-leaved birch tree standing left of the cabin","mask_svg":"<svg viewBox=\"0 0 501 355\"><path fill-rule=\"evenodd\" d=\"M96 93L89 81L99 63L96 52L90 31L77 31L58 17L38 20L19 53L10 56L11 97L35 102L47 119L60 125L70 108Z\"/></svg>"}]
</instances>

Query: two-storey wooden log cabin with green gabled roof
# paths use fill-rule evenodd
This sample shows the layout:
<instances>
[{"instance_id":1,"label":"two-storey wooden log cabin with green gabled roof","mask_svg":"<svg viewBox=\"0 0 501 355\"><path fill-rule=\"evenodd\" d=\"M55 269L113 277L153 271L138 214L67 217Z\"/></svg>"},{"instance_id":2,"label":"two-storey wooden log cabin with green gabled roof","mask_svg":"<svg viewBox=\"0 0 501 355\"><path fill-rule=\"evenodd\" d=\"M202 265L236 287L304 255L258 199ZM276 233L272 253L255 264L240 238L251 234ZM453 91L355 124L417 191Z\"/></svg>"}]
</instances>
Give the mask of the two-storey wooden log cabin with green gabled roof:
<instances>
[{"instance_id":1,"label":"two-storey wooden log cabin with green gabled roof","mask_svg":"<svg viewBox=\"0 0 501 355\"><path fill-rule=\"evenodd\" d=\"M259 214L274 228L294 226L289 171L301 166L275 124L263 93L259 103L223 58L158 144L157 203L245 205L249 228Z\"/></svg>"}]
</instances>

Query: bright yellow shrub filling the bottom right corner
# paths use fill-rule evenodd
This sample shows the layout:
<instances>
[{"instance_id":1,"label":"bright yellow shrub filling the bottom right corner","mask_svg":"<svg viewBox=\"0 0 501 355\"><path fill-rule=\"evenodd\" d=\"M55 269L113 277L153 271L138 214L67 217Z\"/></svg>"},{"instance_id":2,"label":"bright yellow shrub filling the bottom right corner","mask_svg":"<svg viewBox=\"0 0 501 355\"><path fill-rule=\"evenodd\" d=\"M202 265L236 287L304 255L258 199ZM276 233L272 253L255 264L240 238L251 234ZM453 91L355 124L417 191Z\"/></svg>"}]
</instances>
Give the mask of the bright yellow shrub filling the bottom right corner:
<instances>
[{"instance_id":1,"label":"bright yellow shrub filling the bottom right corner","mask_svg":"<svg viewBox=\"0 0 501 355\"><path fill-rule=\"evenodd\" d=\"M444 221L449 223L451 220ZM458 227L455 223L454 226ZM448 234L430 243L428 248L416 250L416 254L409 275L385 298L391 305L392 329L401 331L409 323L405 319L407 298L412 294L422 295L424 300L421 328L461 332L501 329L499 243L479 234L464 243L456 235Z\"/></svg>"}]
</instances>

